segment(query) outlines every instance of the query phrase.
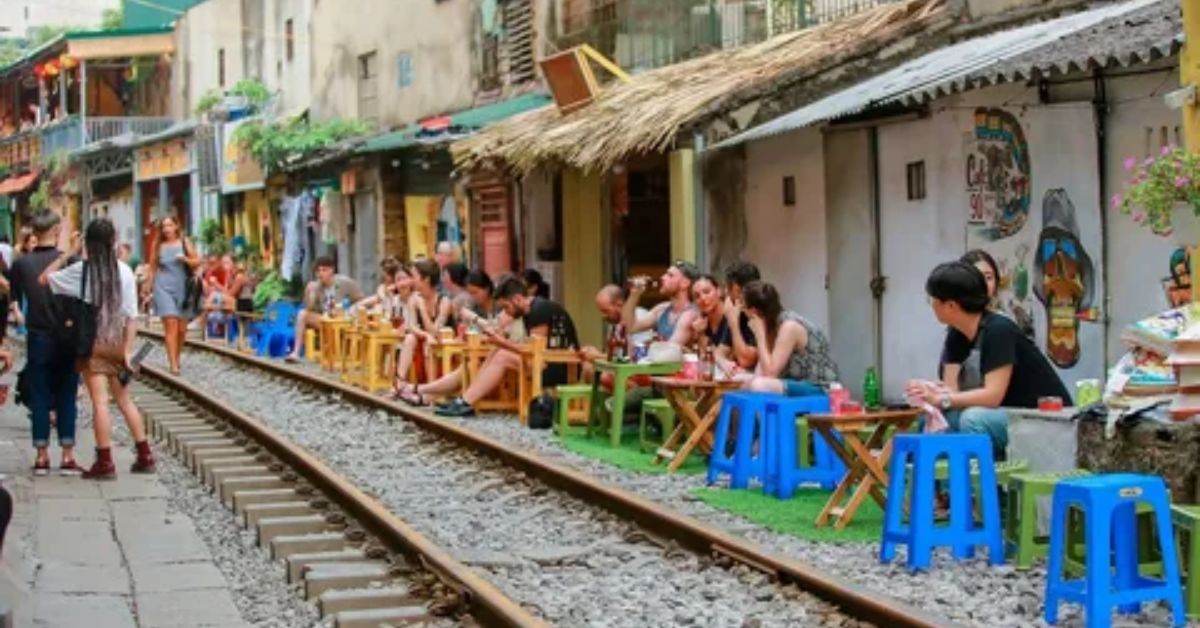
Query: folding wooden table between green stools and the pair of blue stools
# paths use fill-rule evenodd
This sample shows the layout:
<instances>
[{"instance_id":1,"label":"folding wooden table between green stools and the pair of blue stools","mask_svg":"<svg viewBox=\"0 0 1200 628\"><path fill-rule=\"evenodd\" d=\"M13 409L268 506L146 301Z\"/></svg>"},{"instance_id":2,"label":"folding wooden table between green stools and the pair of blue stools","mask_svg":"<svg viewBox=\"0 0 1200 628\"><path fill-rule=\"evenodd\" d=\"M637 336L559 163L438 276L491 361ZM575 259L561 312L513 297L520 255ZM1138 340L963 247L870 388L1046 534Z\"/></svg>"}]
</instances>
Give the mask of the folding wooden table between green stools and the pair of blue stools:
<instances>
[{"instance_id":1,"label":"folding wooden table between green stools and the pair of blue stools","mask_svg":"<svg viewBox=\"0 0 1200 628\"><path fill-rule=\"evenodd\" d=\"M697 445L704 453L713 450L713 424L721 411L721 395L727 390L742 387L742 382L731 379L702 381L683 379L680 377L654 377L654 387L671 403L676 413L676 429L662 442L654 455L654 463L670 459L667 472L674 472L686 462ZM684 433L688 433L684 441ZM671 448L683 441L678 450Z\"/></svg>"}]
</instances>

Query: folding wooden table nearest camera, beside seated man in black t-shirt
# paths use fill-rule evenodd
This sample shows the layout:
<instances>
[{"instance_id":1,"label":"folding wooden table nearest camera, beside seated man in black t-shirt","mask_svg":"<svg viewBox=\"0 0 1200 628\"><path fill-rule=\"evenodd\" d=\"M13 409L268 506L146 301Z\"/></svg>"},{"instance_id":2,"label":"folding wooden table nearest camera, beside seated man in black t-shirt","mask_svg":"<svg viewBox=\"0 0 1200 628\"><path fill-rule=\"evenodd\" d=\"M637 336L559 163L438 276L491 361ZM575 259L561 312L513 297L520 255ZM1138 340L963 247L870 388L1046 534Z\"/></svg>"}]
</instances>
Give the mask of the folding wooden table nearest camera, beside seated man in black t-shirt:
<instances>
[{"instance_id":1,"label":"folding wooden table nearest camera, beside seated man in black t-shirt","mask_svg":"<svg viewBox=\"0 0 1200 628\"><path fill-rule=\"evenodd\" d=\"M836 516L834 527L845 528L868 495L880 508L887 508L884 491L888 488L887 466L892 459L892 437L908 431L919 414L920 411L916 408L840 415L809 414L809 429L829 443L847 469L817 515L817 526L824 526L830 516ZM870 432L866 442L859 438L862 431ZM850 501L842 506L847 495Z\"/></svg>"}]
</instances>

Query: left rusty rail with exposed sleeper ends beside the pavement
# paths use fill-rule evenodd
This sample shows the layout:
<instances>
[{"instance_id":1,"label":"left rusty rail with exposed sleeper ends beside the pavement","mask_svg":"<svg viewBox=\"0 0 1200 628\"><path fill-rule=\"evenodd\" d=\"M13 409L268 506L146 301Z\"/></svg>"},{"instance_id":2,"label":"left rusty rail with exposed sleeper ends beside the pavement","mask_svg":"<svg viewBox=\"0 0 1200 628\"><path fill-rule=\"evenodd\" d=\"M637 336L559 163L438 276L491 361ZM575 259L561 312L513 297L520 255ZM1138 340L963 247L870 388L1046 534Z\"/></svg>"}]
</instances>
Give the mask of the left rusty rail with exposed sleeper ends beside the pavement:
<instances>
[{"instance_id":1,"label":"left rusty rail with exposed sleeper ends beside the pavement","mask_svg":"<svg viewBox=\"0 0 1200 628\"><path fill-rule=\"evenodd\" d=\"M544 627L496 587L262 421L146 366L151 437L212 489L338 628Z\"/></svg>"}]
</instances>

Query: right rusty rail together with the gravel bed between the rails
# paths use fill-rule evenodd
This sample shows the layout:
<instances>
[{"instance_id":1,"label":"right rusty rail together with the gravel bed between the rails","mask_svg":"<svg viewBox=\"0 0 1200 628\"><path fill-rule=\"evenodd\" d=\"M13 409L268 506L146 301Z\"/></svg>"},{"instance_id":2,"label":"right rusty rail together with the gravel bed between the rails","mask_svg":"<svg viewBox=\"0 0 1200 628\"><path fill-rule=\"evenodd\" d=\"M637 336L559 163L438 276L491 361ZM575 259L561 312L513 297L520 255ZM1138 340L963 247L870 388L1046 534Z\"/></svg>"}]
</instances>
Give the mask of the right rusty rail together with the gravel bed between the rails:
<instances>
[{"instance_id":1,"label":"right rusty rail together with the gravel bed between the rails","mask_svg":"<svg viewBox=\"0 0 1200 628\"><path fill-rule=\"evenodd\" d=\"M402 514L412 527L445 548L446 561L462 561L458 566L469 566L467 573L481 584L493 582L493 590L511 596L521 606L517 610L532 621L946 624L413 408L223 347L191 346L218 355L221 367L199 373L198 385L188 387L190 395L208 396L204 405L210 408L239 406L234 412L254 415L302 448L298 451L311 465L343 473L348 478L338 482L343 491L361 486L378 501L377 515ZM193 373L188 366L185 373ZM151 377L186 385L161 375ZM218 378L224 385L212 385ZM234 391L239 387L250 387L252 393ZM214 395L221 389L229 389L229 397L241 396L217 400L226 396ZM281 405L284 399L288 402ZM317 456L329 467L317 462ZM461 572L452 574L458 599L476 599L463 585ZM581 596L604 610L587 603L575 608Z\"/></svg>"}]
</instances>

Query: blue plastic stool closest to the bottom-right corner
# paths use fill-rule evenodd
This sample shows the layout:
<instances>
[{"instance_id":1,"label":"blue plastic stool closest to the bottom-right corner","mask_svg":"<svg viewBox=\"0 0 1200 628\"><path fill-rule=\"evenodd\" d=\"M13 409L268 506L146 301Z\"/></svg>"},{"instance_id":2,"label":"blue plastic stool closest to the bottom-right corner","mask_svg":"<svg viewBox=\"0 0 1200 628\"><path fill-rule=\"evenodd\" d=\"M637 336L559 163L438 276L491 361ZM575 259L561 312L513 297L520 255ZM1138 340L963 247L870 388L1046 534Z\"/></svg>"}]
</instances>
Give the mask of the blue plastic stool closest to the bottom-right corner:
<instances>
[{"instance_id":1,"label":"blue plastic stool closest to the bottom-right corner","mask_svg":"<svg viewBox=\"0 0 1200 628\"><path fill-rule=\"evenodd\" d=\"M1163 557L1163 578L1138 573L1138 503L1154 509ZM1183 626L1183 590L1180 563L1171 543L1171 504L1166 485L1157 476L1111 473L1060 482L1054 489L1050 519L1050 564L1046 568L1046 623L1058 621L1058 603L1084 606L1087 627L1111 624L1112 606L1135 614L1142 602L1165 599L1175 626ZM1085 519L1087 569L1082 579L1063 580L1067 512L1079 508ZM1110 556L1116 562L1112 573Z\"/></svg>"}]
</instances>

